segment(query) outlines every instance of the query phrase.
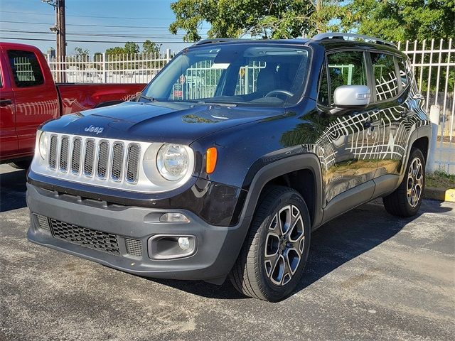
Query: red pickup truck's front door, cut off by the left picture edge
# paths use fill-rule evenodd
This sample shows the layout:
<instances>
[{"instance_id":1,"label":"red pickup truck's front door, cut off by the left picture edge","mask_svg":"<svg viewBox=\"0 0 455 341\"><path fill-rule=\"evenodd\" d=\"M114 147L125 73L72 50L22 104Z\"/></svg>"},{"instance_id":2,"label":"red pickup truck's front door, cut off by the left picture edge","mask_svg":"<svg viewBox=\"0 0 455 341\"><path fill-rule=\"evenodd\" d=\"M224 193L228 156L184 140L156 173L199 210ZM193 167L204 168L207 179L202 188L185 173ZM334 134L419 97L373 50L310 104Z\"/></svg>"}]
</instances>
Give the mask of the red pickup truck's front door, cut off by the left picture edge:
<instances>
[{"instance_id":1,"label":"red pickup truck's front door, cut off by the left picture edge","mask_svg":"<svg viewBox=\"0 0 455 341\"><path fill-rule=\"evenodd\" d=\"M9 73L2 60L0 48L0 159L17 153L16 116L14 114L14 92L11 90Z\"/></svg>"}]
</instances>

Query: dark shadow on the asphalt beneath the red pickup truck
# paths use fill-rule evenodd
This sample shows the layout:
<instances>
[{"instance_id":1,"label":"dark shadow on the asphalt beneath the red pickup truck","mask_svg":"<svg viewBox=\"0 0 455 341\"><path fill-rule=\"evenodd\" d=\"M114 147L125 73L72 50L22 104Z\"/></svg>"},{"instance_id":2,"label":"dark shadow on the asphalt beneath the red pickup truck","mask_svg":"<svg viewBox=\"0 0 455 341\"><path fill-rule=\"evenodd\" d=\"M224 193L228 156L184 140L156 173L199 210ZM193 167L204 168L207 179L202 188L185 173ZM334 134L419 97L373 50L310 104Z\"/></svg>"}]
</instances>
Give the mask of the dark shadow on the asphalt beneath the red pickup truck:
<instances>
[{"instance_id":1,"label":"dark shadow on the asphalt beneath the red pickup truck","mask_svg":"<svg viewBox=\"0 0 455 341\"><path fill-rule=\"evenodd\" d=\"M0 212L26 207L26 181L26 170L0 174Z\"/></svg>"}]
</instances>

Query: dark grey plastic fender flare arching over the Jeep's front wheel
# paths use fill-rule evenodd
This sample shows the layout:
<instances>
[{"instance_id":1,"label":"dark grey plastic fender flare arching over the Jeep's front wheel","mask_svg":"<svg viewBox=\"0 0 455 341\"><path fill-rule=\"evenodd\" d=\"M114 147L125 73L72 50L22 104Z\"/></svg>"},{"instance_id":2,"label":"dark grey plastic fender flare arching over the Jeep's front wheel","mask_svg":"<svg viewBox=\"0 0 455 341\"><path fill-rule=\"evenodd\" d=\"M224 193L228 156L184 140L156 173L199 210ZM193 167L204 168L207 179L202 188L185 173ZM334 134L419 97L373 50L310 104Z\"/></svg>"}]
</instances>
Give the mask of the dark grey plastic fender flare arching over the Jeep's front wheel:
<instances>
[{"instance_id":1,"label":"dark grey plastic fender flare arching over the Jeep's front wheel","mask_svg":"<svg viewBox=\"0 0 455 341\"><path fill-rule=\"evenodd\" d=\"M248 227L250 226L250 221L255 212L257 202L259 201L259 195L270 180L277 178L280 175L301 170L309 170L314 176L314 194L316 197L314 202L312 229L318 227L323 216L323 185L321 161L319 161L319 158L314 153L303 153L281 158L259 168L259 171L257 171L251 181L250 190L248 190L245 205L243 205L242 213L240 215L240 221L245 222L246 220L248 222Z\"/></svg>"}]
</instances>

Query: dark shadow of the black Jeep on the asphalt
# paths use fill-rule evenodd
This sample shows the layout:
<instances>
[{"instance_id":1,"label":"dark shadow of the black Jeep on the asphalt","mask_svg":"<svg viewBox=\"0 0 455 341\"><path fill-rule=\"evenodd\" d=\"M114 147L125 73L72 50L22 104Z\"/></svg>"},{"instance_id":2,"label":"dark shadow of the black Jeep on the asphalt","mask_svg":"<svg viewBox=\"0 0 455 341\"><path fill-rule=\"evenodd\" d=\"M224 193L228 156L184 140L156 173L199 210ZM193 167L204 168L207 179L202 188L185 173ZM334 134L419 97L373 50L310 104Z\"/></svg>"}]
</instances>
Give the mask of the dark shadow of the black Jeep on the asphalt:
<instances>
[{"instance_id":1,"label":"dark shadow of the black Jeep on the asphalt","mask_svg":"<svg viewBox=\"0 0 455 341\"><path fill-rule=\"evenodd\" d=\"M448 212L449 210L451 210L450 207L443 207L440 202L426 200L416 217L397 218L385 212L380 200L375 200L324 224L311 234L311 247L306 269L292 295L305 290L306 287L330 274L339 266L395 236L406 224L422 213ZM222 286L215 286L203 281L161 279L153 279L153 281L208 298L246 298L235 290L228 279Z\"/></svg>"}]
</instances>

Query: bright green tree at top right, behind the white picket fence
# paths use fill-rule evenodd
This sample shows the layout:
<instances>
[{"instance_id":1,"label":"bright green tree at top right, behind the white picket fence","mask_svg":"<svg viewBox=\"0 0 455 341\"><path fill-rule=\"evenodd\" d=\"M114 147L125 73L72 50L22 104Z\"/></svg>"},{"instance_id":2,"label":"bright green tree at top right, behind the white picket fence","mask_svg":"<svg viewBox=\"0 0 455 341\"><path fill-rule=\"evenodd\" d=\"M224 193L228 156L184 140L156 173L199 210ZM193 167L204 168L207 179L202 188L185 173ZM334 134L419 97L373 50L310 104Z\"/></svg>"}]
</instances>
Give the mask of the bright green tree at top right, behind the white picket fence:
<instances>
[{"instance_id":1,"label":"bright green tree at top right, behind the white picket fence","mask_svg":"<svg viewBox=\"0 0 455 341\"><path fill-rule=\"evenodd\" d=\"M351 0L341 25L392 41L455 37L454 0Z\"/></svg>"}]
</instances>

